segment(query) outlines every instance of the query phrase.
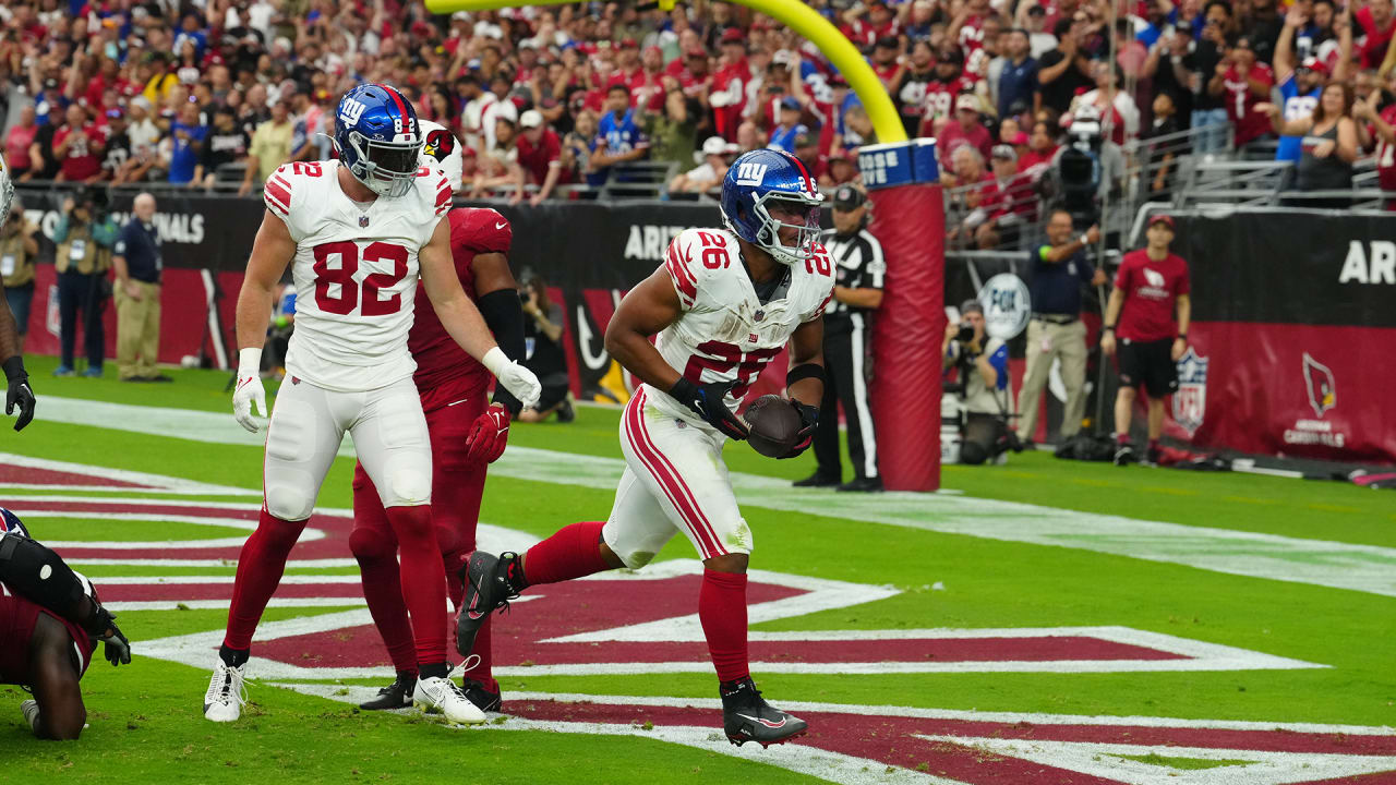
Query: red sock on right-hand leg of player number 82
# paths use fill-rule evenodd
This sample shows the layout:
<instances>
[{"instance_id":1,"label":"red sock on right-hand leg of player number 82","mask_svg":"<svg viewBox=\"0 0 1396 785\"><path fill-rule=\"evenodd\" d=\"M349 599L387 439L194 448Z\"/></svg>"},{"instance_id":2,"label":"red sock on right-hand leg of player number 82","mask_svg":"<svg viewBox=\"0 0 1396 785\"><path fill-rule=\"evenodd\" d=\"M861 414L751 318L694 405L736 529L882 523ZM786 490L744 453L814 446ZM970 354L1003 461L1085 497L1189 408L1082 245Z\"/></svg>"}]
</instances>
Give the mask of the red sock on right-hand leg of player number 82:
<instances>
[{"instance_id":1,"label":"red sock on right-hand leg of player number 82","mask_svg":"<svg viewBox=\"0 0 1396 785\"><path fill-rule=\"evenodd\" d=\"M431 508L389 507L388 522L398 535L402 598L412 615L417 663L445 662L445 570L431 528Z\"/></svg>"}]
</instances>

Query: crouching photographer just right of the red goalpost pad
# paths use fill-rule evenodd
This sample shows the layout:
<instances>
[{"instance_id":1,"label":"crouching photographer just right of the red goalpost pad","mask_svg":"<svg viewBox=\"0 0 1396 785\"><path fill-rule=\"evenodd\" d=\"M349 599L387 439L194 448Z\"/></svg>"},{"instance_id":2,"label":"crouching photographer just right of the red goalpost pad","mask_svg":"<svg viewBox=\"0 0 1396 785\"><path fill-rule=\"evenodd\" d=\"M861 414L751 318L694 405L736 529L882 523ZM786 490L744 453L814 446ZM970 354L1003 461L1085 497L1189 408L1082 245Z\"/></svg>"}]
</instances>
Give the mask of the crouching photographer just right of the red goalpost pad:
<instances>
[{"instance_id":1,"label":"crouching photographer just right of the red goalpost pad","mask_svg":"<svg viewBox=\"0 0 1396 785\"><path fill-rule=\"evenodd\" d=\"M984 334L984 306L965 300L960 321L949 323L941 342L941 367L959 369L958 388L963 402L965 429L962 464L983 464L1007 448L1008 429L1008 345Z\"/></svg>"}]
</instances>

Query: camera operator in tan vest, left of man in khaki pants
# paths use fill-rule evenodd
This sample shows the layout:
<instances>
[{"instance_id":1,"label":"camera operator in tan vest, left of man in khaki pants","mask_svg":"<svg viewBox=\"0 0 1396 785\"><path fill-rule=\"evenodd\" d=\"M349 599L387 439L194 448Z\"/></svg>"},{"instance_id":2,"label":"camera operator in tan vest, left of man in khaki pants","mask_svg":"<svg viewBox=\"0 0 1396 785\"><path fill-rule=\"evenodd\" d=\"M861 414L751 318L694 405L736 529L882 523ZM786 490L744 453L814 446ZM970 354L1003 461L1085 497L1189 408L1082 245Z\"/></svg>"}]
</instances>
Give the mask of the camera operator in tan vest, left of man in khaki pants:
<instances>
[{"instance_id":1,"label":"camera operator in tan vest, left of man in khaki pants","mask_svg":"<svg viewBox=\"0 0 1396 785\"><path fill-rule=\"evenodd\" d=\"M102 307L106 305L106 271L112 268L112 246L117 228L106 214L106 193L78 189L63 203L63 215L53 229L59 249L53 267L59 274L60 363L53 376L73 376L73 344L77 341L78 311L88 367L82 376L102 376L106 335Z\"/></svg>"}]
</instances>

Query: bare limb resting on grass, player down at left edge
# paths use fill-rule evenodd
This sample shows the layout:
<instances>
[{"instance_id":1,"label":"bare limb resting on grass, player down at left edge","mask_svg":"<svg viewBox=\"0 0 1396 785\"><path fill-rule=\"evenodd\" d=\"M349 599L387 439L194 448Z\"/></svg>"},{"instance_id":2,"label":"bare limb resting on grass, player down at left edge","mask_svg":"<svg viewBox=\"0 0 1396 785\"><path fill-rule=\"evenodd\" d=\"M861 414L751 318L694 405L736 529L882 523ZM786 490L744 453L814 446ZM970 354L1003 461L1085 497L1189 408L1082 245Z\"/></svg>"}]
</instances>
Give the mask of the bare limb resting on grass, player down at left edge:
<instances>
[{"instance_id":1,"label":"bare limb resting on grass, player down at left edge","mask_svg":"<svg viewBox=\"0 0 1396 785\"><path fill-rule=\"evenodd\" d=\"M73 663L73 638L52 616L39 613L29 641L29 680L35 707L25 707L29 728L40 739L73 740L82 733L87 707Z\"/></svg>"}]
</instances>

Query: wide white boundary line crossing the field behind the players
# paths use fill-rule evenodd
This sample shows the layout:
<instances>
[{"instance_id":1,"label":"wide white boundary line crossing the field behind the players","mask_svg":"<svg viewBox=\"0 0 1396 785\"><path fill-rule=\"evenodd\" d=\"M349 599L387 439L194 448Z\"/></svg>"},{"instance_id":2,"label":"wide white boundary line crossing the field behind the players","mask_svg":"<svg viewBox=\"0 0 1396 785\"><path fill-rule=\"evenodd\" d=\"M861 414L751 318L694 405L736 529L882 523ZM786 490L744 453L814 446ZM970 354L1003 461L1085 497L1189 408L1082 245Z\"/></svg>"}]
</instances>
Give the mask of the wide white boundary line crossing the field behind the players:
<instances>
[{"instance_id":1,"label":"wide white boundary line crossing the field behind the players","mask_svg":"<svg viewBox=\"0 0 1396 785\"><path fill-rule=\"evenodd\" d=\"M45 401L45 419L53 422L218 444L260 444L255 434L239 427L225 413L53 395ZM353 454L348 440L339 453ZM514 446L490 467L490 474L614 490L624 468L621 458ZM1396 549L1392 548L1188 527L948 493L882 493L872 503L859 494L794 489L775 478L732 472L730 479L737 500L751 507L1075 548L1234 575L1396 596Z\"/></svg>"}]
</instances>

